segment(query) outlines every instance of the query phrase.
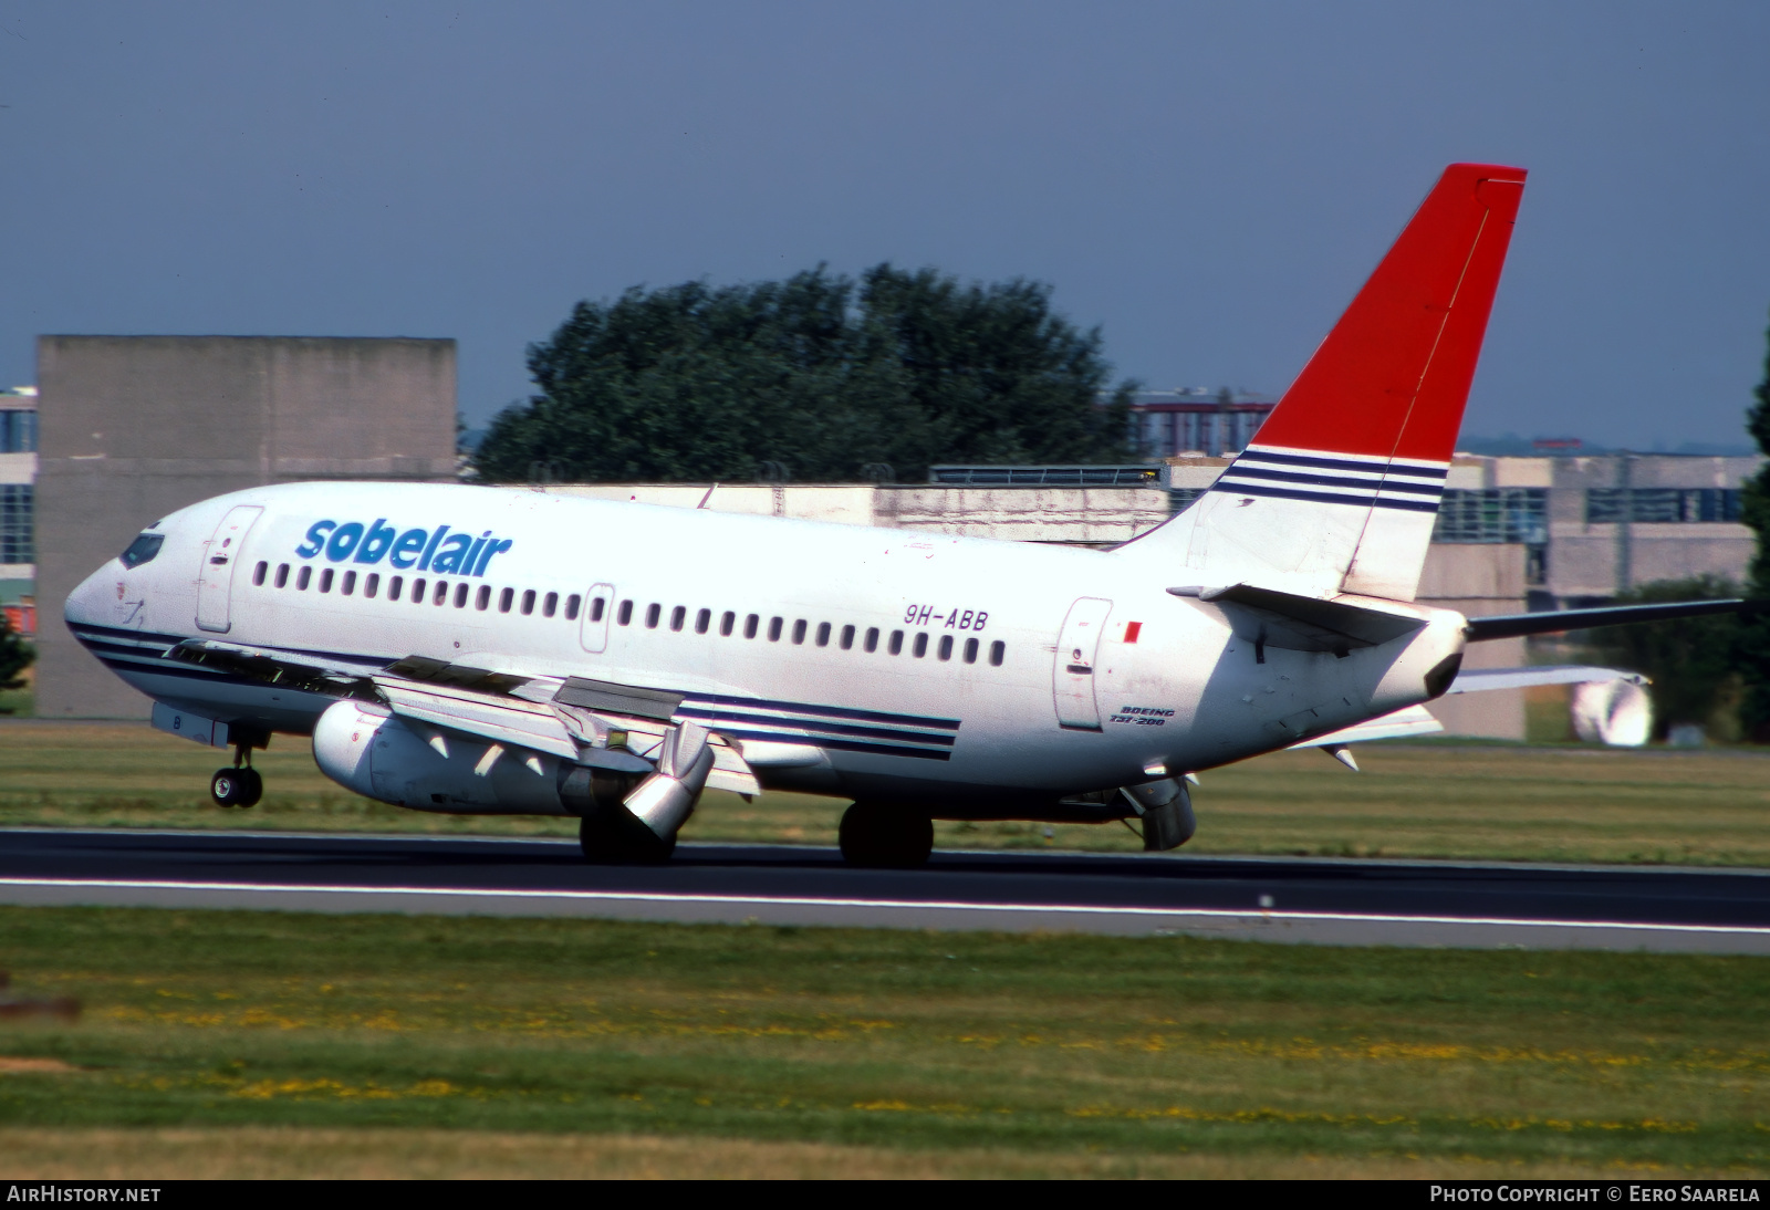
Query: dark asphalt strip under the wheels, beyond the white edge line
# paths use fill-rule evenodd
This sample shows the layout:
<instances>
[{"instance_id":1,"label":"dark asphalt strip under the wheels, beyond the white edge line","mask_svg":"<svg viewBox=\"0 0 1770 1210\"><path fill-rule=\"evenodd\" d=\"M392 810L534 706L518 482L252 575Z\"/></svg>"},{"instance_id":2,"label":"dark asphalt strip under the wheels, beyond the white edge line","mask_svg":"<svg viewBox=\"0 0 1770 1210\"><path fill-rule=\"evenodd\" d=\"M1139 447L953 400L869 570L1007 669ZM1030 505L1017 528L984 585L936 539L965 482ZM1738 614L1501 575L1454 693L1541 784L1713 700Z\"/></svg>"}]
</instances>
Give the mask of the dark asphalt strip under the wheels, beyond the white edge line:
<instances>
[{"instance_id":1,"label":"dark asphalt strip under the wheels, beyond the white edge line","mask_svg":"<svg viewBox=\"0 0 1770 1210\"><path fill-rule=\"evenodd\" d=\"M715 844L596 867L556 840L4 830L0 879L1770 927L1770 874L1651 867L936 853L922 870L855 870L832 849Z\"/></svg>"}]
</instances>

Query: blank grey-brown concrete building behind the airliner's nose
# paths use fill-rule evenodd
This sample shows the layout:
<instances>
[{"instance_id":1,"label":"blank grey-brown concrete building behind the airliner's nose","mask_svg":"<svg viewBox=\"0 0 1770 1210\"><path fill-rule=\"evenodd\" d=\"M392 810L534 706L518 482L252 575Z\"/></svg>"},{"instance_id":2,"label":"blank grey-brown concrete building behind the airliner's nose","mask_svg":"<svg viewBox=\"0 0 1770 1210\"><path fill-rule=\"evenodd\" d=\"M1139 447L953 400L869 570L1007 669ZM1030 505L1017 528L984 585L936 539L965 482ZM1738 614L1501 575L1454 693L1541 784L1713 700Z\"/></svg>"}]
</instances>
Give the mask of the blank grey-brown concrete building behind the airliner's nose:
<instances>
[{"instance_id":1,"label":"blank grey-brown concrete building behind the airliner's nose","mask_svg":"<svg viewBox=\"0 0 1770 1210\"><path fill-rule=\"evenodd\" d=\"M455 341L41 336L37 598L58 605L158 517L297 479L457 476ZM37 715L149 702L44 617Z\"/></svg>"}]
</instances>

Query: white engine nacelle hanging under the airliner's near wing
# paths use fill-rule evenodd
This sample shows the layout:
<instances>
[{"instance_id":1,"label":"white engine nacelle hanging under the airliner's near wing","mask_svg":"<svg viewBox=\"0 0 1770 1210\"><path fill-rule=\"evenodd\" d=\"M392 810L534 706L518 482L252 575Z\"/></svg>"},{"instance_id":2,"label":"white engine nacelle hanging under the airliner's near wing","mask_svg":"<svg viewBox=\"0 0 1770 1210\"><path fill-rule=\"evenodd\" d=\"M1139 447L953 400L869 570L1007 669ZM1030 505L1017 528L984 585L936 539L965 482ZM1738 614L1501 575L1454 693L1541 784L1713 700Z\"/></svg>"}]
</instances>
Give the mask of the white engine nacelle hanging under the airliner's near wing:
<instances>
[{"instance_id":1,"label":"white engine nacelle hanging under the airliner's near wing","mask_svg":"<svg viewBox=\"0 0 1770 1210\"><path fill-rule=\"evenodd\" d=\"M593 816L618 808L639 782L635 773L423 729L386 706L354 701L319 716L313 762L365 798L473 816Z\"/></svg>"}]
</instances>

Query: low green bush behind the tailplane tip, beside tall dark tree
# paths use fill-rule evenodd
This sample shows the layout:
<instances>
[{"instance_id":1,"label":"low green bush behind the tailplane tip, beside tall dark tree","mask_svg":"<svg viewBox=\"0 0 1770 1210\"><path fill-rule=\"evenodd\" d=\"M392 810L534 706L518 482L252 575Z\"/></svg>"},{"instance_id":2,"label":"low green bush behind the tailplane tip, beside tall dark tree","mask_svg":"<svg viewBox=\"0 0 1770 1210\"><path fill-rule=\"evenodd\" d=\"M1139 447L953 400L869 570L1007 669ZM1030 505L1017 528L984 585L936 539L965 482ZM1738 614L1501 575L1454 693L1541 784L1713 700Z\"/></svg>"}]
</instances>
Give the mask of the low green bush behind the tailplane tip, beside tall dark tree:
<instances>
[{"instance_id":1,"label":"low green bush behind the tailplane tip, beside tall dark tree","mask_svg":"<svg viewBox=\"0 0 1770 1210\"><path fill-rule=\"evenodd\" d=\"M1719 575L1655 580L1620 593L1618 605L1708 601L1738 596ZM1696 724L1722 739L1738 738L1740 623L1731 614L1604 626L1591 632L1593 658L1653 679L1653 734L1664 739L1678 724Z\"/></svg>"}]
</instances>

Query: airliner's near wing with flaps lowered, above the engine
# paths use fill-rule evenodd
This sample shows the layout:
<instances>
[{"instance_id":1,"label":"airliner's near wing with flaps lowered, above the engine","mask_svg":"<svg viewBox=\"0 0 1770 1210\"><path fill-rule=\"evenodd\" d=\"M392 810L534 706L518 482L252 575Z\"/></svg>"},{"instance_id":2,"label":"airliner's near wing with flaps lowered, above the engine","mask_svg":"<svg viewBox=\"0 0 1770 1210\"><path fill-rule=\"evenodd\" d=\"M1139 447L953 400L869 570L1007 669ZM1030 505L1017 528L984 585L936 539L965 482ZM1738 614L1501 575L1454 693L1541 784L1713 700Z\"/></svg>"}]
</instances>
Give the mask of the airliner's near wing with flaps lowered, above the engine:
<instances>
[{"instance_id":1,"label":"airliner's near wing with flaps lowered, above the engine","mask_svg":"<svg viewBox=\"0 0 1770 1210\"><path fill-rule=\"evenodd\" d=\"M627 773L653 768L683 701L681 693L650 686L519 676L430 656L352 662L212 639L181 642L168 656L292 688L379 701L444 754L451 736L467 736ZM710 745L708 785L761 793L738 739L715 731Z\"/></svg>"}]
</instances>

